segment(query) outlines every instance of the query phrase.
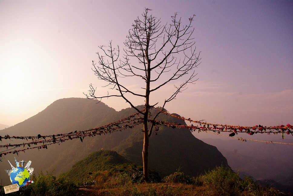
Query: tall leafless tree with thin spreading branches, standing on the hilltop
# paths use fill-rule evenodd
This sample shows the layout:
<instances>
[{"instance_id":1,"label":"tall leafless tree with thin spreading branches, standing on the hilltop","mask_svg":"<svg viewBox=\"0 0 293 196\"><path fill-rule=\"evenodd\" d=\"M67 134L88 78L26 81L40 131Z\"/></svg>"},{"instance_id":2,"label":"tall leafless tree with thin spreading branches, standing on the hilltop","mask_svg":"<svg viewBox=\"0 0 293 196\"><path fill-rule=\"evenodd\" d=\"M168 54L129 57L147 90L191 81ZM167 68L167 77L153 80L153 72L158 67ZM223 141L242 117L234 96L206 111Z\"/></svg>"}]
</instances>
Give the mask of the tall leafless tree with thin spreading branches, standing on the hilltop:
<instances>
[{"instance_id":1,"label":"tall leafless tree with thin spreading branches, standing on the hilltop","mask_svg":"<svg viewBox=\"0 0 293 196\"><path fill-rule=\"evenodd\" d=\"M189 18L189 23L183 25L177 13L171 16L171 24L161 25L161 20L153 17L146 8L142 17L138 17L129 30L129 35L125 41L124 57L119 58L119 47L114 48L112 41L105 49L100 46L101 54L98 55L98 63L94 63L95 75L100 80L106 81L110 89L117 90L116 94L109 93L105 96L96 96L96 88L90 84L88 99L102 99L108 97L122 97L131 107L136 109L143 117L143 178L148 181L148 145L149 137L152 134L154 124L148 125L150 109L156 104L150 105L150 94L168 82L185 78L185 81L175 87L175 92L163 103L165 104L175 99L178 93L185 90L188 83L193 83L195 79L194 68L199 64L199 54L196 54L195 42L192 34L194 28L191 26L195 15ZM102 56L105 55L105 56ZM176 56L174 56L176 54ZM135 60L136 59L136 60ZM135 61L133 61L135 60ZM130 64L130 61L133 61ZM186 75L186 76L185 76ZM138 77L145 81L146 86L142 87L145 93L140 94L128 89L127 84L121 82L121 77ZM162 78L166 78L161 81ZM160 80L161 79L161 80ZM143 91L144 91L143 90ZM129 100L129 95L141 97L145 100L144 110L140 111ZM153 120L156 119L157 113Z\"/></svg>"}]
</instances>

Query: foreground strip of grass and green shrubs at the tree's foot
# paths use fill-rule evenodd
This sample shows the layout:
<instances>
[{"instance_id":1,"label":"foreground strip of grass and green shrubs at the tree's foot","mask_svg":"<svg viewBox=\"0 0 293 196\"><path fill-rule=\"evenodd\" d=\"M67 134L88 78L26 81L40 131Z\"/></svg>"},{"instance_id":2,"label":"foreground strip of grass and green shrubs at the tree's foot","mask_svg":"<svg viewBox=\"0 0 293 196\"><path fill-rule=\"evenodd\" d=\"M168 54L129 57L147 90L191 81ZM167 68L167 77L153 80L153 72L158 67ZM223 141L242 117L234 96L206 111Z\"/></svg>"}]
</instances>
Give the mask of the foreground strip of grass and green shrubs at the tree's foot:
<instances>
[{"instance_id":1,"label":"foreground strip of grass and green shrubs at the tree's foot","mask_svg":"<svg viewBox=\"0 0 293 196\"><path fill-rule=\"evenodd\" d=\"M204 175L192 177L177 170L163 180L156 172L151 172L150 183L143 182L141 167L130 164L115 165L114 167L92 173L85 178L87 185L74 184L66 175L55 177L52 173L38 177L32 176L33 184L21 187L19 191L10 195L97 195L97 196L176 196L176 195L285 195L272 188L262 188L256 185L251 177L244 180L239 174L230 169L216 167ZM0 194L4 195L1 187Z\"/></svg>"}]
</instances>

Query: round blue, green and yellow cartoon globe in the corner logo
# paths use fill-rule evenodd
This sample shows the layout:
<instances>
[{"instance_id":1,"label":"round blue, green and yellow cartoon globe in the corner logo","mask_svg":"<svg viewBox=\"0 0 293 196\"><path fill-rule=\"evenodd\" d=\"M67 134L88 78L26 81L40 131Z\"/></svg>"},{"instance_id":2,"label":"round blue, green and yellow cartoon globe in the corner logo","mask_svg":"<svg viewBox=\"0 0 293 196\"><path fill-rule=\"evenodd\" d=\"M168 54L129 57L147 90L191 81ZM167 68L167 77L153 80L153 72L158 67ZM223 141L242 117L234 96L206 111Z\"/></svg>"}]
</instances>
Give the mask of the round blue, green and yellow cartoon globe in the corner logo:
<instances>
[{"instance_id":1,"label":"round blue, green and yellow cartoon globe in the corner logo","mask_svg":"<svg viewBox=\"0 0 293 196\"><path fill-rule=\"evenodd\" d=\"M17 167L10 173L10 181L12 184L18 184L20 187L27 185L29 181L29 173L23 167Z\"/></svg>"}]
</instances>

